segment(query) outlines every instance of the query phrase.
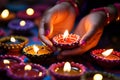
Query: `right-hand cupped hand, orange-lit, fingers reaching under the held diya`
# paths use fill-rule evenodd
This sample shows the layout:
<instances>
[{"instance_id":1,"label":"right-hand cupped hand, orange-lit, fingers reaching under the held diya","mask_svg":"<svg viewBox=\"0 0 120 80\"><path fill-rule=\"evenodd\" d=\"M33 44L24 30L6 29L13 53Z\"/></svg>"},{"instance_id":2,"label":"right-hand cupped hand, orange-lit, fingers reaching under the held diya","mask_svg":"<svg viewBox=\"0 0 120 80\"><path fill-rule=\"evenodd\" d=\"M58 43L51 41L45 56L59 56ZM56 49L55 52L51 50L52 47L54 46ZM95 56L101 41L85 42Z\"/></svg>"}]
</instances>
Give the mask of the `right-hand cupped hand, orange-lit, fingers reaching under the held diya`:
<instances>
[{"instance_id":1,"label":"right-hand cupped hand, orange-lit, fingers reaching under the held diya","mask_svg":"<svg viewBox=\"0 0 120 80\"><path fill-rule=\"evenodd\" d=\"M100 40L105 24L106 15L102 11L85 16L74 32L81 36L80 46L73 50L65 50L58 57L83 54L95 47Z\"/></svg>"}]
</instances>

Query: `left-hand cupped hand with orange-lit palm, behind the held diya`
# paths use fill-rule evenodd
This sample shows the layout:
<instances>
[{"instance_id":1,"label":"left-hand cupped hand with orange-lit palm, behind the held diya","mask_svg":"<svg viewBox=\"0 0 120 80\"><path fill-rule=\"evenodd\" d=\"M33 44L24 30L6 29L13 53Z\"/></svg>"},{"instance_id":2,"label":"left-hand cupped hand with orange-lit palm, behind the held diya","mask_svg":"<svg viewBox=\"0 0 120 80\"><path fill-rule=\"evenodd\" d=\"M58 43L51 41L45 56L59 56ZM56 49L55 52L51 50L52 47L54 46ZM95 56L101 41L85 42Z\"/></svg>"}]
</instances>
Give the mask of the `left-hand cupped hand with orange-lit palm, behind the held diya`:
<instances>
[{"instance_id":1,"label":"left-hand cupped hand with orange-lit palm, behind the held diya","mask_svg":"<svg viewBox=\"0 0 120 80\"><path fill-rule=\"evenodd\" d=\"M39 26L39 38L49 47L53 48L50 39L66 29L72 30L75 21L75 10L69 2L55 5L43 15Z\"/></svg>"}]
</instances>

